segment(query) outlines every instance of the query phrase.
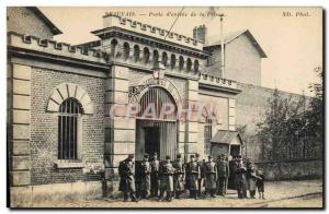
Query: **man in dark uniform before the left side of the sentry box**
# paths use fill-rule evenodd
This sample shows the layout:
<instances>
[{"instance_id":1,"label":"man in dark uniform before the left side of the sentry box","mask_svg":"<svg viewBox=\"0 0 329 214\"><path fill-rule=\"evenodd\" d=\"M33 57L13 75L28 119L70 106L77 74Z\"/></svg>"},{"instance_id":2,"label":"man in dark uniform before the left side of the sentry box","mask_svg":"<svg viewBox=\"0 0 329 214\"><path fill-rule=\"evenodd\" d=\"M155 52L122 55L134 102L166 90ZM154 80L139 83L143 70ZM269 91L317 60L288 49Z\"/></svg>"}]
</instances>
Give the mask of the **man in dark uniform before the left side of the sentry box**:
<instances>
[{"instance_id":1,"label":"man in dark uniform before the left side of the sentry box","mask_svg":"<svg viewBox=\"0 0 329 214\"><path fill-rule=\"evenodd\" d=\"M217 160L217 194L225 197L226 194L226 181L229 175L228 163L226 162L225 155L218 155Z\"/></svg>"}]
</instances>

